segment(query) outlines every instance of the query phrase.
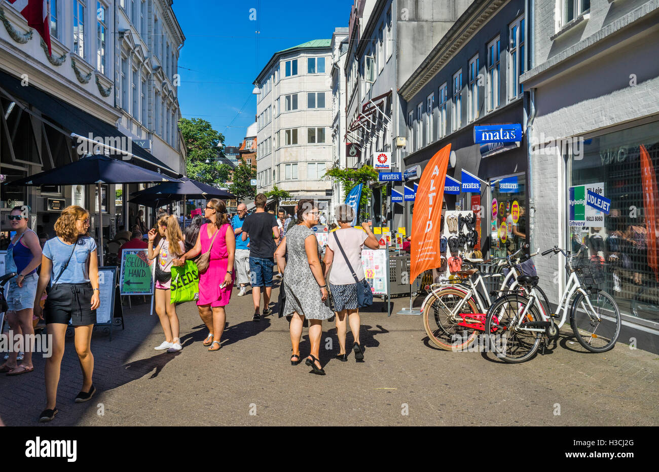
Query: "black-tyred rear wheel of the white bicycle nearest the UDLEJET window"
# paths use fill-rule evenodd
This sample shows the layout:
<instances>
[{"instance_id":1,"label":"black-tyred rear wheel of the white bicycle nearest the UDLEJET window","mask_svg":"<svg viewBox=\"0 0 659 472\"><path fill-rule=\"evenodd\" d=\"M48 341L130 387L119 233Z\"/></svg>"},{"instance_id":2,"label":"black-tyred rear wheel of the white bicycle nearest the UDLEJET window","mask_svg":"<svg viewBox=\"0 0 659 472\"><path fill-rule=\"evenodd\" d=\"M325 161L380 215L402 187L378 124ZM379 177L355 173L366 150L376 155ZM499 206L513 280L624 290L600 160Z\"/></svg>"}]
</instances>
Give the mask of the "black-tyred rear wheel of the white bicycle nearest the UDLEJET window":
<instances>
[{"instance_id":1,"label":"black-tyred rear wheel of the white bicycle nearest the UDLEJET window","mask_svg":"<svg viewBox=\"0 0 659 472\"><path fill-rule=\"evenodd\" d=\"M528 361L538 352L542 332L529 331L525 324L542 321L536 305L529 307L523 323L519 316L529 305L529 299L518 294L504 295L492 303L485 321L485 332L490 336L490 349L508 363Z\"/></svg>"}]
</instances>

